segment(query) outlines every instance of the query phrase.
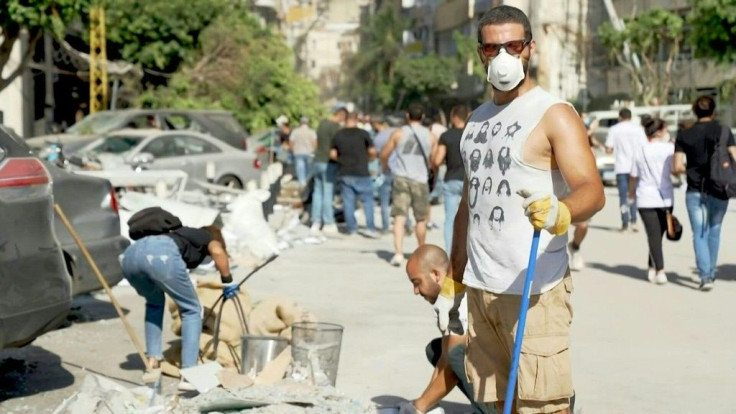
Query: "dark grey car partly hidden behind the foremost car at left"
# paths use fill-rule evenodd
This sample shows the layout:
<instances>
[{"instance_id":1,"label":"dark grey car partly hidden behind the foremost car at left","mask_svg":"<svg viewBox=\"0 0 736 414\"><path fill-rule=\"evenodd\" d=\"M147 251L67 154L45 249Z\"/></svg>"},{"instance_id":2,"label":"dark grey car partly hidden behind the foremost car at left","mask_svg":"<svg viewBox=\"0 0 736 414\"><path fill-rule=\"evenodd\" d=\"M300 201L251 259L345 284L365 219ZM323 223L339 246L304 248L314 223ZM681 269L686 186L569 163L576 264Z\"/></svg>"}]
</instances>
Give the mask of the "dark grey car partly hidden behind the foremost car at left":
<instances>
[{"instance_id":1,"label":"dark grey car partly hidden behind the foremost car at left","mask_svg":"<svg viewBox=\"0 0 736 414\"><path fill-rule=\"evenodd\" d=\"M56 203L74 226L107 284L116 285L123 278L119 256L130 241L120 234L115 189L105 179L73 174L53 163L46 163L46 168L53 178ZM92 267L58 216L54 226L67 271L72 277L72 294L102 289Z\"/></svg>"}]
</instances>

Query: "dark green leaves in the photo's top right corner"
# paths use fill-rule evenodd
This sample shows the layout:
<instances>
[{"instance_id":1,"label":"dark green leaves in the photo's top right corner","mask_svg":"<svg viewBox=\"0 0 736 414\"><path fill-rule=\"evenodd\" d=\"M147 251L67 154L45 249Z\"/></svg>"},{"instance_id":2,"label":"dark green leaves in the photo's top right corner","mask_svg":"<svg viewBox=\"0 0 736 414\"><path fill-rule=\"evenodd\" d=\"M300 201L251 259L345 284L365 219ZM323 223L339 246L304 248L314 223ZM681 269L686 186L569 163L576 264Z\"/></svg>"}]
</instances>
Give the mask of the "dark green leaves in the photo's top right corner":
<instances>
[{"instance_id":1,"label":"dark green leaves in the photo's top right corner","mask_svg":"<svg viewBox=\"0 0 736 414\"><path fill-rule=\"evenodd\" d=\"M690 40L698 57L736 62L736 0L693 1Z\"/></svg>"}]
</instances>

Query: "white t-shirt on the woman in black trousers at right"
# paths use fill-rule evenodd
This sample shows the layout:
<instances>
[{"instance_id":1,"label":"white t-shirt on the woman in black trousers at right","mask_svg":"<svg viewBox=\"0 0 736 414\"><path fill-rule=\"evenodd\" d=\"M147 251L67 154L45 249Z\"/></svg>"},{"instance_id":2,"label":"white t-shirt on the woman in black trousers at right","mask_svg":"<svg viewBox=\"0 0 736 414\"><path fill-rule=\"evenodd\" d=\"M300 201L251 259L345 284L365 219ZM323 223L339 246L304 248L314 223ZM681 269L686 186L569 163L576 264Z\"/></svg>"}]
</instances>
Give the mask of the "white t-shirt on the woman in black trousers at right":
<instances>
[{"instance_id":1,"label":"white t-shirt on the woman in black trousers at right","mask_svg":"<svg viewBox=\"0 0 736 414\"><path fill-rule=\"evenodd\" d=\"M636 205L640 208L672 206L672 155L675 146L670 142L644 144L634 157L631 175L639 177L636 187Z\"/></svg>"}]
</instances>

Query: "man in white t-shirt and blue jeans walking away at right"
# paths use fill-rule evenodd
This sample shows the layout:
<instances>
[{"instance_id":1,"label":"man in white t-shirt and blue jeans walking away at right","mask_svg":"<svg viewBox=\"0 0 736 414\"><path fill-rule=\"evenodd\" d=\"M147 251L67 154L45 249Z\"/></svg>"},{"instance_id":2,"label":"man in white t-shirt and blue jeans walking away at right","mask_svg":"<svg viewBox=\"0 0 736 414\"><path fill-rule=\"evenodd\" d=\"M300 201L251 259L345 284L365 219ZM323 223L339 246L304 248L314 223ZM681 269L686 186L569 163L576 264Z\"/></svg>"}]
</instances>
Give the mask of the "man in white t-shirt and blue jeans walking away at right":
<instances>
[{"instance_id":1,"label":"man in white t-shirt and blue jeans walking away at right","mask_svg":"<svg viewBox=\"0 0 736 414\"><path fill-rule=\"evenodd\" d=\"M629 179L634 156L646 143L646 136L641 125L631 120L631 111L622 108L618 111L618 123L608 130L606 152L615 157L614 172L618 187L619 206L621 207L621 232L629 229L637 232L636 202L629 200Z\"/></svg>"}]
</instances>

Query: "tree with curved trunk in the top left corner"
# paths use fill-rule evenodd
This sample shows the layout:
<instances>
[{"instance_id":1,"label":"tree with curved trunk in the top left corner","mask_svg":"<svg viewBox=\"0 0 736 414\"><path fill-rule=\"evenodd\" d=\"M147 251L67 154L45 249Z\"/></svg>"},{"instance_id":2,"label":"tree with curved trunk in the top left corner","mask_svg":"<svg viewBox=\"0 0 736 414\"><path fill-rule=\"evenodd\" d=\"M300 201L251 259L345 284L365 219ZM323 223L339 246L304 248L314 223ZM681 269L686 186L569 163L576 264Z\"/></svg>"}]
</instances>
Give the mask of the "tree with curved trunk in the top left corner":
<instances>
[{"instance_id":1,"label":"tree with curved trunk in the top left corner","mask_svg":"<svg viewBox=\"0 0 736 414\"><path fill-rule=\"evenodd\" d=\"M87 10L88 0L5 0L0 6L0 91L10 85L23 71L45 30L63 37L67 24ZM28 34L28 49L20 65L2 76L10 61L13 46Z\"/></svg>"}]
</instances>

